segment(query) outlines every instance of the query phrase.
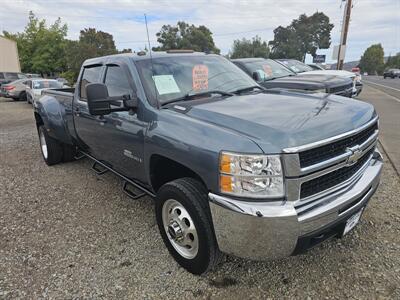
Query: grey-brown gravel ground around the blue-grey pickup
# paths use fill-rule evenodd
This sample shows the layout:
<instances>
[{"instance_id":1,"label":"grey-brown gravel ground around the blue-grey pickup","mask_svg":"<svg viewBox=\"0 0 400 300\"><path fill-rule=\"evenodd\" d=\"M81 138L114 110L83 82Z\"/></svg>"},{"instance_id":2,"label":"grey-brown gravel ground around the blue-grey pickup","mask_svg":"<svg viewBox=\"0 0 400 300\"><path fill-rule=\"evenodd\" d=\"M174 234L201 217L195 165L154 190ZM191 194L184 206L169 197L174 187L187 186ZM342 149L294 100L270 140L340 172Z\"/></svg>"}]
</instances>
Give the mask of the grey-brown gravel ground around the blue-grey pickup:
<instances>
[{"instance_id":1,"label":"grey-brown gravel ground around the blue-grey pickup","mask_svg":"<svg viewBox=\"0 0 400 300\"><path fill-rule=\"evenodd\" d=\"M0 299L400 299L400 181L385 162L345 238L280 261L228 257L199 277L169 256L151 199L88 160L47 167L31 106L0 99Z\"/></svg>"}]
</instances>

